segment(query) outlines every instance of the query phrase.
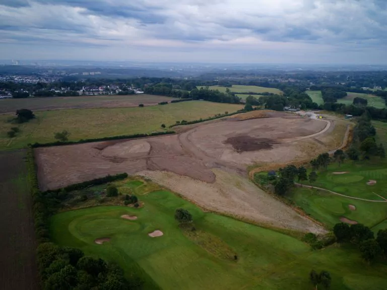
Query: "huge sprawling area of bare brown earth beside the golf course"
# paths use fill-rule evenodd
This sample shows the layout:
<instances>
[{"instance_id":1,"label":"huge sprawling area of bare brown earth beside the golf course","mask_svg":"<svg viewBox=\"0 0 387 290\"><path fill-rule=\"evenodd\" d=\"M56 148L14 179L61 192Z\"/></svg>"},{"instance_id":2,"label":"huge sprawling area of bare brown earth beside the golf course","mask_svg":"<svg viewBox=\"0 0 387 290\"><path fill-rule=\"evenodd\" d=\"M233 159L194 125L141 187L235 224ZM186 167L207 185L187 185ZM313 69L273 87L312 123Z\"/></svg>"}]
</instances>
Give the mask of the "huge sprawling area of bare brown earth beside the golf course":
<instances>
[{"instance_id":1,"label":"huge sprawling area of bare brown earth beside the golf course","mask_svg":"<svg viewBox=\"0 0 387 290\"><path fill-rule=\"evenodd\" d=\"M319 225L250 183L246 167L306 158L310 148L313 154L332 149L313 139L334 127L327 121L276 113L264 119L200 124L173 136L38 148L35 154L42 190L108 173L141 174L209 210L320 233L324 229Z\"/></svg>"}]
</instances>

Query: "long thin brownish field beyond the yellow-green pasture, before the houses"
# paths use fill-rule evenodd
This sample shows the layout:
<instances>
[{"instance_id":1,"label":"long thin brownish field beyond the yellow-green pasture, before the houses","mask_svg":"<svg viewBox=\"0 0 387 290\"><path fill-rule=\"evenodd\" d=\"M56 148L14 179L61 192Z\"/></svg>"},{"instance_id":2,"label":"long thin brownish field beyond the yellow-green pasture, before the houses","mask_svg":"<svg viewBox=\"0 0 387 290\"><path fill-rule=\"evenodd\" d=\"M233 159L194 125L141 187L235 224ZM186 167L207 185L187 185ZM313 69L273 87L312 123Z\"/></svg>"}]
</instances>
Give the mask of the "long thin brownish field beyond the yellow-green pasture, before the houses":
<instances>
[{"instance_id":1,"label":"long thin brownish field beyond the yellow-green pasture, before the houses","mask_svg":"<svg viewBox=\"0 0 387 290\"><path fill-rule=\"evenodd\" d=\"M17 109L30 109L36 111L103 107L137 107L139 104L155 105L159 102L170 102L173 99L175 98L147 94L5 99L0 100L0 113L14 113Z\"/></svg>"}]
</instances>

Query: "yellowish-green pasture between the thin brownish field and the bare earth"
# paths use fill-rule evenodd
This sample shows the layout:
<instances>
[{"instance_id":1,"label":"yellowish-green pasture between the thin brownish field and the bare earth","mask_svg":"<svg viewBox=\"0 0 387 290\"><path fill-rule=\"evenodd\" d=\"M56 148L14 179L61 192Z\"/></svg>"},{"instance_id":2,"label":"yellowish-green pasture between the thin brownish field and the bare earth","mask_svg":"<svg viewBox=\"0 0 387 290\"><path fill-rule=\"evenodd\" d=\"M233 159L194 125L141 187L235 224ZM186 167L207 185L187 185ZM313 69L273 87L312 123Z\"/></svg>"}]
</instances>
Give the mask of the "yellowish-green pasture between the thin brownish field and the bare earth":
<instances>
[{"instance_id":1,"label":"yellowish-green pasture between the thin brownish field and the bare earth","mask_svg":"<svg viewBox=\"0 0 387 290\"><path fill-rule=\"evenodd\" d=\"M189 101L167 105L125 108L69 109L35 112L36 119L21 125L8 123L14 115L0 115L0 150L16 149L28 143L55 141L54 133L67 130L70 141L135 133L163 131L161 124L198 120L225 111L234 112L243 105ZM19 127L15 138L8 138L11 127Z\"/></svg>"}]
</instances>

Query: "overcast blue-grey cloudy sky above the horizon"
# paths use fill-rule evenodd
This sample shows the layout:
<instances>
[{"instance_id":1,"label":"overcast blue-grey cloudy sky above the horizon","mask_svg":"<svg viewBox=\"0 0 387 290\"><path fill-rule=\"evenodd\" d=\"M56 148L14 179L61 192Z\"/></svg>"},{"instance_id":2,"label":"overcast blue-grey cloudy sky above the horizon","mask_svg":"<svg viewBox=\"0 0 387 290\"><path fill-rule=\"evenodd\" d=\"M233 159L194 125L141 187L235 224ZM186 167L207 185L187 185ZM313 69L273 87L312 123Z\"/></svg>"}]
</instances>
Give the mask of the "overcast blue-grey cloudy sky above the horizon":
<instances>
[{"instance_id":1,"label":"overcast blue-grey cloudy sky above the horizon","mask_svg":"<svg viewBox=\"0 0 387 290\"><path fill-rule=\"evenodd\" d=\"M387 0L0 0L0 59L387 64Z\"/></svg>"}]
</instances>

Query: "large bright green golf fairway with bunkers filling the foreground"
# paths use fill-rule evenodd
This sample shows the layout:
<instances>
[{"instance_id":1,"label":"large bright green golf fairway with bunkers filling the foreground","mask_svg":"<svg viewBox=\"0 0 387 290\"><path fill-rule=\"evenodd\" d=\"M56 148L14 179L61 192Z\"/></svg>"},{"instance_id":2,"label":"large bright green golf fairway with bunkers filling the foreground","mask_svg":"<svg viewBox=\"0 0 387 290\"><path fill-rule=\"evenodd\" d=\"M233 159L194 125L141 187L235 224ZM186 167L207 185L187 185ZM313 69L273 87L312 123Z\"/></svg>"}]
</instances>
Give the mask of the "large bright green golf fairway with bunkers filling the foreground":
<instances>
[{"instance_id":1,"label":"large bright green golf fairway with bunkers filling the foreground","mask_svg":"<svg viewBox=\"0 0 387 290\"><path fill-rule=\"evenodd\" d=\"M140 275L146 290L307 290L311 269L329 270L332 289L381 290L387 282L387 266L366 264L355 249L312 251L277 231L205 213L167 190L144 192L144 183L118 183L120 191L130 188L139 196L142 208L99 206L56 214L54 242L119 263L127 276ZM176 208L187 209L193 223L180 227ZM125 214L137 219L122 218ZM154 230L163 235L151 238ZM107 242L96 244L101 238Z\"/></svg>"}]
</instances>

